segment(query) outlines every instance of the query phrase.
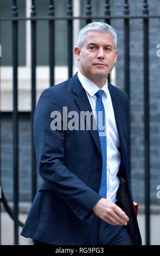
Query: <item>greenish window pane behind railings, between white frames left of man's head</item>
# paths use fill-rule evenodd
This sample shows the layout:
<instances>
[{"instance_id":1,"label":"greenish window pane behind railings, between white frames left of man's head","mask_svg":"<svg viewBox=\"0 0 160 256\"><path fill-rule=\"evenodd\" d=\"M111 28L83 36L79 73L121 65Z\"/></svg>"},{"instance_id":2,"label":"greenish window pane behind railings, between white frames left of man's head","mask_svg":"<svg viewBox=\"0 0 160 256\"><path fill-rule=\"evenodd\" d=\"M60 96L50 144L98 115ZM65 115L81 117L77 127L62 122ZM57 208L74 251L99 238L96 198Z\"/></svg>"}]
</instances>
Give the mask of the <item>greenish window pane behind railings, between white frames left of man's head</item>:
<instances>
[{"instance_id":1,"label":"greenish window pane behind railings, between white frames left of man's head","mask_svg":"<svg viewBox=\"0 0 160 256\"><path fill-rule=\"evenodd\" d=\"M36 0L36 15L47 16L49 1ZM55 16L66 16L67 0L54 2ZM67 21L55 21L55 65L67 65ZM49 22L37 21L37 65L49 65Z\"/></svg>"}]
</instances>

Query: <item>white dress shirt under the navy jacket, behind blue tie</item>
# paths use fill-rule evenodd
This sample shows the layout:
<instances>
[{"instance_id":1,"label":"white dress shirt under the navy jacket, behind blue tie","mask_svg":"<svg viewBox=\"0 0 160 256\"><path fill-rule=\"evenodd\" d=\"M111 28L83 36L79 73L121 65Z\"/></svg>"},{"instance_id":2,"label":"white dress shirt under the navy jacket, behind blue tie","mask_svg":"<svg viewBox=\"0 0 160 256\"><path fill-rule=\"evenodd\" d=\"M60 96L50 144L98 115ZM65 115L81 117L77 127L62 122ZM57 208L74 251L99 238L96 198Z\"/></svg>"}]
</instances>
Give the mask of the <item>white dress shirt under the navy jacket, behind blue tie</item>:
<instances>
[{"instance_id":1,"label":"white dress shirt under the navy jacket, behind blue tie","mask_svg":"<svg viewBox=\"0 0 160 256\"><path fill-rule=\"evenodd\" d=\"M99 87L88 80L84 75L78 71L78 78L84 87L88 100L91 104L91 108L95 117L95 103L97 97L94 95L98 92ZM118 170L121 161L121 154L118 150L119 136L116 126L116 120L114 118L114 111L112 106L111 95L108 90L108 82L101 88L104 90L102 101L105 108L106 116L106 139L107 139L107 199L111 200L113 203L117 201L116 194L119 187Z\"/></svg>"}]
</instances>

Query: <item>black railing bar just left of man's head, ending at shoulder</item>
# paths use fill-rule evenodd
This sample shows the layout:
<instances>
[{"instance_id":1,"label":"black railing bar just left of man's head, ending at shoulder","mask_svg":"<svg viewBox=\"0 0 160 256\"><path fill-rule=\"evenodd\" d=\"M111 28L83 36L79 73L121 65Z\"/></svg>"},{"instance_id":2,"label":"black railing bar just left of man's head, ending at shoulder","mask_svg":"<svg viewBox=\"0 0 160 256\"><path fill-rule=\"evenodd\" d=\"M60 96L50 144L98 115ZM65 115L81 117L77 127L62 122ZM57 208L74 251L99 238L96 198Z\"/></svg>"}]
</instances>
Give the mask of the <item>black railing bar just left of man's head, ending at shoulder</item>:
<instances>
[{"instance_id":1,"label":"black railing bar just left of man's head, ending at shoulder","mask_svg":"<svg viewBox=\"0 0 160 256\"><path fill-rule=\"evenodd\" d=\"M71 18L67 21L68 38L68 78L73 76L73 6L72 0L68 0L67 15Z\"/></svg>"}]
</instances>

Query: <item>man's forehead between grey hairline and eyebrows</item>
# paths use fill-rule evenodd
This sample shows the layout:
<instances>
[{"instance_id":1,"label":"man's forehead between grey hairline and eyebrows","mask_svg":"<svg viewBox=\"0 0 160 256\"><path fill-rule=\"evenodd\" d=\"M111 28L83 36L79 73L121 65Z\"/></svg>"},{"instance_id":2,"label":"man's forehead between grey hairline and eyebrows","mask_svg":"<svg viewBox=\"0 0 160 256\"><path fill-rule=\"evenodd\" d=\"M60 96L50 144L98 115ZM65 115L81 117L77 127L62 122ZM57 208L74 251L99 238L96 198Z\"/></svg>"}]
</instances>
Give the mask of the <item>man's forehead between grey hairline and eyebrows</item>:
<instances>
[{"instance_id":1,"label":"man's forehead between grey hairline and eyebrows","mask_svg":"<svg viewBox=\"0 0 160 256\"><path fill-rule=\"evenodd\" d=\"M88 45L91 42L97 44L110 44L114 45L113 43L113 36L108 32L101 32L101 31L88 31L84 38L84 45Z\"/></svg>"}]
</instances>

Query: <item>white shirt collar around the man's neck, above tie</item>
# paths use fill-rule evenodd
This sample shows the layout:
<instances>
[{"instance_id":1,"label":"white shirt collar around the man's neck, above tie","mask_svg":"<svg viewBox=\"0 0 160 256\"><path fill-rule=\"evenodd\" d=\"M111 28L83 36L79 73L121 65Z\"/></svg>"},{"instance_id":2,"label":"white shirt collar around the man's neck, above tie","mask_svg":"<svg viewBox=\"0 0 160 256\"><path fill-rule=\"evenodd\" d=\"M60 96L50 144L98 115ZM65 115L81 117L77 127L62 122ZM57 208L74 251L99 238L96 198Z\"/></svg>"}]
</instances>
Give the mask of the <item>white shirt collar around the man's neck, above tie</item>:
<instances>
[{"instance_id":1,"label":"white shirt collar around the man's neck, above tie","mask_svg":"<svg viewBox=\"0 0 160 256\"><path fill-rule=\"evenodd\" d=\"M98 92L99 87L95 83L93 83L87 77L82 75L80 71L78 71L77 75L78 75L79 81L82 84L82 87L84 87L84 89L87 91L87 93L89 95L93 96L95 93ZM105 92L105 94L107 96L107 93L108 93L108 80L106 81L105 85L101 88L101 90L104 90L104 92Z\"/></svg>"}]
</instances>

